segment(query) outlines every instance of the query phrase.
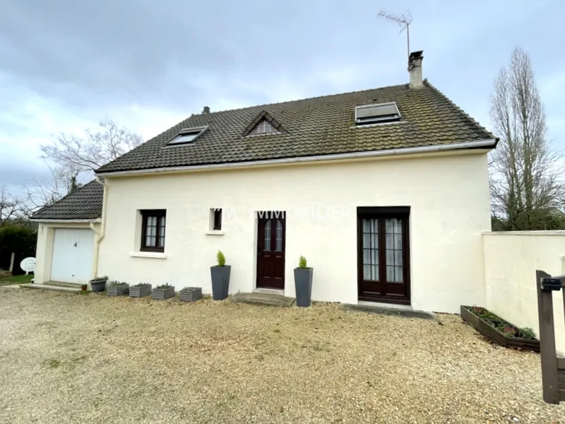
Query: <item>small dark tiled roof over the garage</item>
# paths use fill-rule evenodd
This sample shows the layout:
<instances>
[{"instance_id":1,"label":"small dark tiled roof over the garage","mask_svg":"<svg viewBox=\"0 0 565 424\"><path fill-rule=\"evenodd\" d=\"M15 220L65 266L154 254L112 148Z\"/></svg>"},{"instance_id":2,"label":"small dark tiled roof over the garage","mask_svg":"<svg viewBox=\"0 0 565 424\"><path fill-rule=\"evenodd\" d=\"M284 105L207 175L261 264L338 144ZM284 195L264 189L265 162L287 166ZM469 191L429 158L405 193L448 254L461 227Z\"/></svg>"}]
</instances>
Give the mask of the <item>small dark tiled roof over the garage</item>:
<instances>
[{"instance_id":1,"label":"small dark tiled roof over the garage","mask_svg":"<svg viewBox=\"0 0 565 424\"><path fill-rule=\"evenodd\" d=\"M95 179L80 189L68 194L51 206L35 212L32 219L96 219L102 216L104 186Z\"/></svg>"}]
</instances>

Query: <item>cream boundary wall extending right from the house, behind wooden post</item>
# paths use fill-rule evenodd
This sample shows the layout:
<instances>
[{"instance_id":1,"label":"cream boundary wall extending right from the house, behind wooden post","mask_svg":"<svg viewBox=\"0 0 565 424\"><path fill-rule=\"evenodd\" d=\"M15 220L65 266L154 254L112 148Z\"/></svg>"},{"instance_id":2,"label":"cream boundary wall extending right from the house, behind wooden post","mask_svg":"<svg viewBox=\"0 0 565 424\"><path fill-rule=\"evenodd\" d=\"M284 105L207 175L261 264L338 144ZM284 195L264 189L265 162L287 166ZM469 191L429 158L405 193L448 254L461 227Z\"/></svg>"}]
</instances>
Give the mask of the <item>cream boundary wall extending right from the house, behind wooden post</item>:
<instances>
[{"instance_id":1,"label":"cream boundary wall extending right from the house, behind wooden post","mask_svg":"<svg viewBox=\"0 0 565 424\"><path fill-rule=\"evenodd\" d=\"M535 270L565 273L565 231L487 232L484 267L487 309L539 336ZM478 305L478 304L477 304ZM557 350L565 354L563 293L553 298Z\"/></svg>"}]
</instances>

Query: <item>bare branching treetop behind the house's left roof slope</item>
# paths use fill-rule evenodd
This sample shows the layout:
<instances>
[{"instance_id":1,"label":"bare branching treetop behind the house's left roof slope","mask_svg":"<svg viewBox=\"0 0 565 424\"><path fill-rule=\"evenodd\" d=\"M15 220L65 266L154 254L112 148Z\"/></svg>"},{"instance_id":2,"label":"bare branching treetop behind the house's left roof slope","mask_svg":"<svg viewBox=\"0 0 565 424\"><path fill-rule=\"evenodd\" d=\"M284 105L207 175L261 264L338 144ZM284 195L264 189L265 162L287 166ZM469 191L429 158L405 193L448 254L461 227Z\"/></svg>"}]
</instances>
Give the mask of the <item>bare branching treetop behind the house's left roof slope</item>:
<instances>
[{"instance_id":1,"label":"bare branching treetop behind the house's left roof slope","mask_svg":"<svg viewBox=\"0 0 565 424\"><path fill-rule=\"evenodd\" d=\"M83 136L60 134L54 143L40 146L42 158L76 175L91 172L143 143L143 138L106 118L100 129Z\"/></svg>"}]
</instances>

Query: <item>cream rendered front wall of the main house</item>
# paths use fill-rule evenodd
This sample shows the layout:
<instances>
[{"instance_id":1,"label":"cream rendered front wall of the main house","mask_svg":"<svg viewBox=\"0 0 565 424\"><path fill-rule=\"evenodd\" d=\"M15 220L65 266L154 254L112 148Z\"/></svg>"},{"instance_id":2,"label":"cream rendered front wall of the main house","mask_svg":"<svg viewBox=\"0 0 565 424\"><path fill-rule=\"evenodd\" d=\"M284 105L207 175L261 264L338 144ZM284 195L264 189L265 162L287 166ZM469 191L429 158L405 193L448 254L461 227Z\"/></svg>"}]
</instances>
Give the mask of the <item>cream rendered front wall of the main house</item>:
<instances>
[{"instance_id":1,"label":"cream rendered front wall of the main house","mask_svg":"<svg viewBox=\"0 0 565 424\"><path fill-rule=\"evenodd\" d=\"M490 230L484 153L107 178L98 275L210 293L221 249L230 293L256 285L255 211L287 211L285 293L299 255L314 267L314 300L357 302L357 206L410 206L412 307L457 312L484 303L482 232ZM210 208L224 235L206 235ZM166 259L139 250L138 210L167 209ZM306 216L295 213L307 208Z\"/></svg>"}]
</instances>

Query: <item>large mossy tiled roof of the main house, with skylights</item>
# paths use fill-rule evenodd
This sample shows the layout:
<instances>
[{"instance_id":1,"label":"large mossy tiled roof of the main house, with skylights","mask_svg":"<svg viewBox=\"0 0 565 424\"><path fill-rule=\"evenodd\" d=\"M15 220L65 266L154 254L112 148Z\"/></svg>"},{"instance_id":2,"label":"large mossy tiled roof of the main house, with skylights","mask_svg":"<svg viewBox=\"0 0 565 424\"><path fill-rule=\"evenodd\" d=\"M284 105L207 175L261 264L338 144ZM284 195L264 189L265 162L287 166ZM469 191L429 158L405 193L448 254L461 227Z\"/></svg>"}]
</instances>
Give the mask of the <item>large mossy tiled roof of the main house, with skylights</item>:
<instances>
[{"instance_id":1,"label":"large mossy tiled roof of the main house, with skylights","mask_svg":"<svg viewBox=\"0 0 565 424\"><path fill-rule=\"evenodd\" d=\"M396 102L402 119L386 125L355 127L355 107ZM244 136L260 114L268 113L282 134ZM181 129L208 125L194 143L167 146ZM494 139L439 90L424 81L318 98L194 114L97 172L143 170L277 158L298 158L434 146Z\"/></svg>"}]
</instances>

